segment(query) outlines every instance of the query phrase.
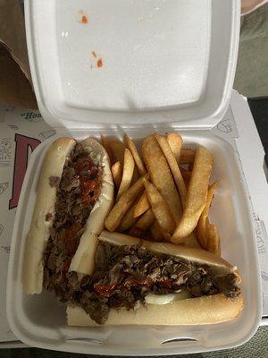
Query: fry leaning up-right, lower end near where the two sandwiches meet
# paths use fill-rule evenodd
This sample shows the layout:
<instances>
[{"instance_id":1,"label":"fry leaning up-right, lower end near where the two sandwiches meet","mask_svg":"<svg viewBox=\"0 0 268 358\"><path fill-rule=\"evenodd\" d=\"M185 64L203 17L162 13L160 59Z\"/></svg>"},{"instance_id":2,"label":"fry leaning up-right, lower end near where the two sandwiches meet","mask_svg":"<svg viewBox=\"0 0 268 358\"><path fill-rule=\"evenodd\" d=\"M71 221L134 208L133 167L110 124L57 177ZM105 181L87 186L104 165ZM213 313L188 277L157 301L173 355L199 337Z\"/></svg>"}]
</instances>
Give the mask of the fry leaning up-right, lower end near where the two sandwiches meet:
<instances>
[{"instance_id":1,"label":"fry leaning up-right, lower end near where the two sandwiches meet","mask_svg":"<svg viewBox=\"0 0 268 358\"><path fill-rule=\"evenodd\" d=\"M116 202L113 209L105 219L105 227L107 230L114 231L120 225L124 215L130 207L133 206L135 200L138 198L138 195L143 191L144 178L147 179L148 177L148 174L141 176L135 184L130 186L130 189L127 192L124 192L121 195L121 198Z\"/></svg>"}]
</instances>

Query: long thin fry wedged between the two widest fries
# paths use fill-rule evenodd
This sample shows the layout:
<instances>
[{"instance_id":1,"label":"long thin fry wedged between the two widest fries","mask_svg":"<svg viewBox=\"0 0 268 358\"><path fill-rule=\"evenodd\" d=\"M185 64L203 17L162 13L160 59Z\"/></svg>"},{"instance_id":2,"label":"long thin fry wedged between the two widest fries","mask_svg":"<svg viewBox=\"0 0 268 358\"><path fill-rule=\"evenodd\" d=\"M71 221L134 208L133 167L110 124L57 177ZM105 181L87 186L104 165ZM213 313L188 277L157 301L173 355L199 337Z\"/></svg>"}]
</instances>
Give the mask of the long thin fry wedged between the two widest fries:
<instances>
[{"instance_id":1,"label":"long thin fry wedged between the two widest fries","mask_svg":"<svg viewBox=\"0 0 268 358\"><path fill-rule=\"evenodd\" d=\"M187 188L184 183L183 177L180 173L180 167L172 153L172 149L167 141L167 139L159 134L155 134L156 141L158 142L160 148L163 151L163 155L170 166L172 171L174 182L176 183L177 189L180 192L180 200L182 203L182 208L185 207Z\"/></svg>"}]
</instances>

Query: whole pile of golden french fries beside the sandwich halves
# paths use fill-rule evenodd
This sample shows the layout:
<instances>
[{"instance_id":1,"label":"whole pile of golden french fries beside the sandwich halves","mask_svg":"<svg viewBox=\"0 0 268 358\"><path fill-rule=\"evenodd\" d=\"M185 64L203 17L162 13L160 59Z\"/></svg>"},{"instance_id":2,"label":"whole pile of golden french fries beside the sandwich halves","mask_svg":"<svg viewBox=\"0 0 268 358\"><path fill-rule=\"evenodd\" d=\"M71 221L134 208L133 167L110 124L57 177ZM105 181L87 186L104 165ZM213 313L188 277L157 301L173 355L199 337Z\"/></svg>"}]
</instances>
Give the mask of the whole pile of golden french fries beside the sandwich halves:
<instances>
[{"instance_id":1,"label":"whole pile of golden french fries beside the sandwich halves","mask_svg":"<svg viewBox=\"0 0 268 358\"><path fill-rule=\"evenodd\" d=\"M209 183L214 160L208 149L182 148L177 132L149 135L140 152L127 134L123 142L105 136L101 141L115 188L107 230L221 255L218 228L208 218L219 184Z\"/></svg>"}]
</instances>

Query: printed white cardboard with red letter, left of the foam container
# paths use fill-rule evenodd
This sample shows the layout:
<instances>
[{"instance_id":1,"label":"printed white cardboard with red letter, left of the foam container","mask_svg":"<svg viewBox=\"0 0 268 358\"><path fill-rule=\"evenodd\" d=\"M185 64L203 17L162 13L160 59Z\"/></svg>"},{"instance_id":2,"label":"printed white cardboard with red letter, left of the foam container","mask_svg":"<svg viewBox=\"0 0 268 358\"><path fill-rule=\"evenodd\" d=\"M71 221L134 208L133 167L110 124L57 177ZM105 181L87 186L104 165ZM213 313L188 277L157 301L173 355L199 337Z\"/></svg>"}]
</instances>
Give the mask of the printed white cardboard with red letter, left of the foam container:
<instances>
[{"instance_id":1,"label":"printed white cardboard with red letter, left of the foam container","mask_svg":"<svg viewBox=\"0 0 268 358\"><path fill-rule=\"evenodd\" d=\"M31 152L54 133L38 111L0 108L0 342L16 340L5 317L5 282L21 185Z\"/></svg>"}]
</instances>

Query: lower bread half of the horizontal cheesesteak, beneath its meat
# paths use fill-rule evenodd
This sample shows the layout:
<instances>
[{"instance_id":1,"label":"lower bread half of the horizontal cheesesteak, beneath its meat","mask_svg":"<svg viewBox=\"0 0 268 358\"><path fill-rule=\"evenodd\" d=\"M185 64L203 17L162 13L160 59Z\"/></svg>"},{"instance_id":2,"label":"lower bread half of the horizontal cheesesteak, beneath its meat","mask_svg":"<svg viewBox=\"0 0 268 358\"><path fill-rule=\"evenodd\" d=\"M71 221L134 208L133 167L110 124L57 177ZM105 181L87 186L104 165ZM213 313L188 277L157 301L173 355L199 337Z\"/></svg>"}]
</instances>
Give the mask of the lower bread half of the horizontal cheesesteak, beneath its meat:
<instances>
[{"instance_id":1,"label":"lower bread half of the horizontal cheesesteak, beneath its meat","mask_svg":"<svg viewBox=\"0 0 268 358\"><path fill-rule=\"evenodd\" d=\"M109 312L105 326L122 325L204 325L233 320L243 309L242 295L230 300L224 294L214 294L175 301L168 304L147 304L136 311L125 309ZM69 326L98 326L80 307L67 307Z\"/></svg>"}]
</instances>

